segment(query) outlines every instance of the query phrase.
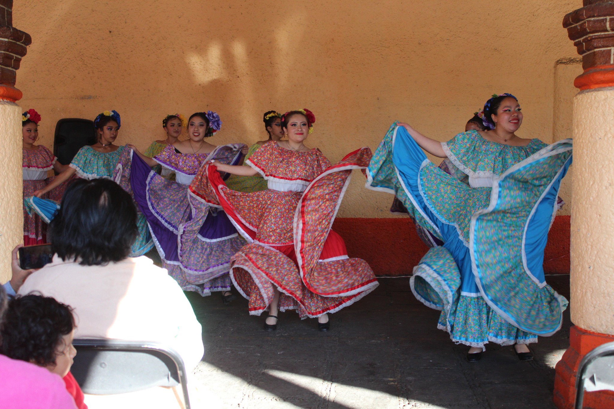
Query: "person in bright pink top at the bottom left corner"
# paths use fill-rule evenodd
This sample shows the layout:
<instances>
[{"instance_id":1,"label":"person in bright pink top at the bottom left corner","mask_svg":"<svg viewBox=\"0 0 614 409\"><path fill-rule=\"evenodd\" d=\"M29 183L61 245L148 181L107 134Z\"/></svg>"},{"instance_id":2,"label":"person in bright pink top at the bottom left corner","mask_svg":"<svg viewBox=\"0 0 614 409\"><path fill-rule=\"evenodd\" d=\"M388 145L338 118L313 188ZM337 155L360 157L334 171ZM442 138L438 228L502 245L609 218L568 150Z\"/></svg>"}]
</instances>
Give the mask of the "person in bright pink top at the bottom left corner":
<instances>
[{"instance_id":1,"label":"person in bright pink top at the bottom left corner","mask_svg":"<svg viewBox=\"0 0 614 409\"><path fill-rule=\"evenodd\" d=\"M4 315L6 297L2 286L0 318ZM66 385L55 373L0 355L0 408L76 409L76 405Z\"/></svg>"}]
</instances>

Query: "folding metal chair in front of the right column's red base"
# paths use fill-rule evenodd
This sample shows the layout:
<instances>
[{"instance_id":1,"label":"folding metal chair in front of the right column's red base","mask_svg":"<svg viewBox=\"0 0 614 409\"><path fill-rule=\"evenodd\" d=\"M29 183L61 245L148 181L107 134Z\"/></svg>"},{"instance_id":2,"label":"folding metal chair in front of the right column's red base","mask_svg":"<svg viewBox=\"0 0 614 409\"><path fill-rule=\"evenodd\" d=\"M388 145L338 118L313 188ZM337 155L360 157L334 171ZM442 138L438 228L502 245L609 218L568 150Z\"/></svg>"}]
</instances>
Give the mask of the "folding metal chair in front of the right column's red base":
<instances>
[{"instance_id":1,"label":"folding metal chair in front of the right column's red base","mask_svg":"<svg viewBox=\"0 0 614 409\"><path fill-rule=\"evenodd\" d=\"M576 376L575 409L582 409L584 391L614 391L614 342L597 346L583 357Z\"/></svg>"}]
</instances>

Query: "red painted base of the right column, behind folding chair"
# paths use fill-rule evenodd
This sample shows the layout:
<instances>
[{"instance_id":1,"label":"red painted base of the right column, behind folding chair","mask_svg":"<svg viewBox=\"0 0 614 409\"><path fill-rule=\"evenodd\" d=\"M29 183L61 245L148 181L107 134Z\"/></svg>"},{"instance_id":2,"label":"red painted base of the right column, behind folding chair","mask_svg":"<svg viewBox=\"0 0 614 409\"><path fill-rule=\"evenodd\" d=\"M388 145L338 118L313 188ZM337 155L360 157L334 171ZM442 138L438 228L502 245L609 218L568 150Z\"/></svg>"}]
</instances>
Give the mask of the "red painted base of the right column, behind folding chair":
<instances>
[{"instance_id":1,"label":"red painted base of the right column, behind folding chair","mask_svg":"<svg viewBox=\"0 0 614 409\"><path fill-rule=\"evenodd\" d=\"M556 364L554 375L554 404L559 409L573 409L575 402L575 380L582 358L590 351L604 343L613 342L613 335L586 331L578 326L569 330L569 348ZM590 409L614 408L614 392L585 392L584 407Z\"/></svg>"}]
</instances>

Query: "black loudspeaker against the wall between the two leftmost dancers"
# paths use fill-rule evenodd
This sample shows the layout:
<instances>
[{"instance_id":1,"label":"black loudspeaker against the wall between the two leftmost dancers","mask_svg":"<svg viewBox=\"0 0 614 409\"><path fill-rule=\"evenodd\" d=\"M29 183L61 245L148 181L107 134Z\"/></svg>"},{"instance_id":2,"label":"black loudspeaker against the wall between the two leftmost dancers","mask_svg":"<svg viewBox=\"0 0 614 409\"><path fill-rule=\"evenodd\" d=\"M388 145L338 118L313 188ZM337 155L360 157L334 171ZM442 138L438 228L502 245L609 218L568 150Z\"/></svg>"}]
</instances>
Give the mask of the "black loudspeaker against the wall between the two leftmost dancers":
<instances>
[{"instance_id":1,"label":"black loudspeaker against the wall between the two leftmost dancers","mask_svg":"<svg viewBox=\"0 0 614 409\"><path fill-rule=\"evenodd\" d=\"M94 143L96 143L94 121L64 118L55 125L53 155L63 165L68 165L80 148Z\"/></svg>"}]
</instances>

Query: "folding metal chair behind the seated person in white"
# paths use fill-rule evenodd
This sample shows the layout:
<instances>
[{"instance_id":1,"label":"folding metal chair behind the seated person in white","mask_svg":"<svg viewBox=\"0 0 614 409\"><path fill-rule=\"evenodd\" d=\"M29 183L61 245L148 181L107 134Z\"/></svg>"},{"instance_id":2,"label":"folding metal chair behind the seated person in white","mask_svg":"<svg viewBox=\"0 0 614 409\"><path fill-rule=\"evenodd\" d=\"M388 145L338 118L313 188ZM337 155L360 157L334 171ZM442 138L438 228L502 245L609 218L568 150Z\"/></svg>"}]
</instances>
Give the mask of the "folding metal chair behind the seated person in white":
<instances>
[{"instance_id":1,"label":"folding metal chair behind the seated person in white","mask_svg":"<svg viewBox=\"0 0 614 409\"><path fill-rule=\"evenodd\" d=\"M114 395L181 385L190 409L184 361L159 342L76 339L71 373L85 394Z\"/></svg>"}]
</instances>

